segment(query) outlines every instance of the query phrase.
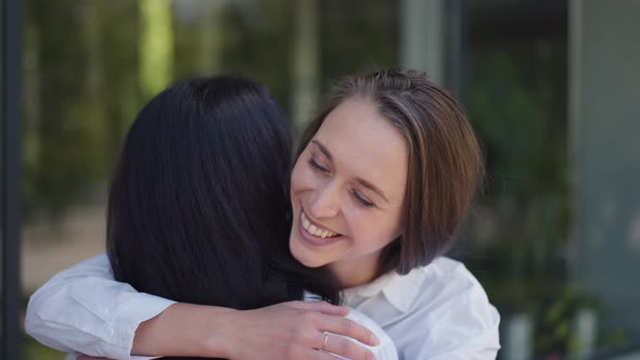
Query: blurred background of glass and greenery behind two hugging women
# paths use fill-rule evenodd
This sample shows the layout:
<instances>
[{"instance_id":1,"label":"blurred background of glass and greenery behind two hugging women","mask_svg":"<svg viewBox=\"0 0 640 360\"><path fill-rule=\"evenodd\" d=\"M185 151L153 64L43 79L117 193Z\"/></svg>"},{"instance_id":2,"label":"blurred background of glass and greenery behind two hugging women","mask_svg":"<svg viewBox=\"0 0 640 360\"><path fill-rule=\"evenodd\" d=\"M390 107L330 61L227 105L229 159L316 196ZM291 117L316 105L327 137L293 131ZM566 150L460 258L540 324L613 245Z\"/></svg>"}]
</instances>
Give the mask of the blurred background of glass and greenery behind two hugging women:
<instances>
[{"instance_id":1,"label":"blurred background of glass and greenery behind two hugging women","mask_svg":"<svg viewBox=\"0 0 640 360\"><path fill-rule=\"evenodd\" d=\"M2 319L103 250L124 134L174 79L243 74L299 130L332 80L401 65L461 99L482 140L487 181L450 256L501 313L500 359L640 359L640 0L2 3L3 49L22 31L2 53ZM64 358L3 323L22 359Z\"/></svg>"}]
</instances>

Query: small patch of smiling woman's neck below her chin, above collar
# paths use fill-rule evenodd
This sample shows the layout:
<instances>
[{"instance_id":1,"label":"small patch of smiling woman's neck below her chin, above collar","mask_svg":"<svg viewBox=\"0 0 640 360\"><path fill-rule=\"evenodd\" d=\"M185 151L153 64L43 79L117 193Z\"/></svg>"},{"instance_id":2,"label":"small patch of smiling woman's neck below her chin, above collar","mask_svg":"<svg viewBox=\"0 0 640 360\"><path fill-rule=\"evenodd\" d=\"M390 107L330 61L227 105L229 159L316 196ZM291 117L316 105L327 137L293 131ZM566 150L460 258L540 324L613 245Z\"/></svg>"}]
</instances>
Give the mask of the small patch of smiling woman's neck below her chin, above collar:
<instances>
[{"instance_id":1,"label":"small patch of smiling woman's neck below her chin, above collar","mask_svg":"<svg viewBox=\"0 0 640 360\"><path fill-rule=\"evenodd\" d=\"M343 288L364 285L376 278L380 253L329 265Z\"/></svg>"}]
</instances>

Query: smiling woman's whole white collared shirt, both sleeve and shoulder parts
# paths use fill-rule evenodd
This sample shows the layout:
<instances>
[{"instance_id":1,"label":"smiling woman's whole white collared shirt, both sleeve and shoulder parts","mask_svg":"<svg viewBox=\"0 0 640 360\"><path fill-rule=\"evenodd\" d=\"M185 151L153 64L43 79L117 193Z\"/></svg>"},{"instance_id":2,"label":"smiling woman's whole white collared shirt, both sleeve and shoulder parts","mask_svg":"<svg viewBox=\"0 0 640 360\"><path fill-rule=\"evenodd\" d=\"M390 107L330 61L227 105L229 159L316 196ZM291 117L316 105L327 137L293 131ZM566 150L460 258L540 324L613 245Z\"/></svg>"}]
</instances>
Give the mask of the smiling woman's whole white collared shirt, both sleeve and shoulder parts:
<instances>
[{"instance_id":1,"label":"smiling woman's whole white collared shirt, both sleeve and shoulder parts","mask_svg":"<svg viewBox=\"0 0 640 360\"><path fill-rule=\"evenodd\" d=\"M391 336L401 360L495 359L499 316L475 278L438 258L400 277L389 273L344 291L347 306ZM60 272L29 299L25 329L62 351L131 359L138 325L174 301L114 281L102 254Z\"/></svg>"}]
</instances>

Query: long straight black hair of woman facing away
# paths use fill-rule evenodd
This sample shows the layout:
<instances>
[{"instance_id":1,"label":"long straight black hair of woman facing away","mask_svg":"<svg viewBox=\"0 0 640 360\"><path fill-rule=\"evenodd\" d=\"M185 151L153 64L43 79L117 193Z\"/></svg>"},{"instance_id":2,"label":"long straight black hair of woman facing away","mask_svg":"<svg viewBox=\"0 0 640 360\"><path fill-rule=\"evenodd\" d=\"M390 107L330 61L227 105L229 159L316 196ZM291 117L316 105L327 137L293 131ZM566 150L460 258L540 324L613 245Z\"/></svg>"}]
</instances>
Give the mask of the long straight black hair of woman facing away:
<instances>
[{"instance_id":1,"label":"long straight black hair of woman facing away","mask_svg":"<svg viewBox=\"0 0 640 360\"><path fill-rule=\"evenodd\" d=\"M338 301L333 277L293 258L291 131L268 90L218 76L179 82L142 108L110 189L115 279L183 303L249 309Z\"/></svg>"}]
</instances>

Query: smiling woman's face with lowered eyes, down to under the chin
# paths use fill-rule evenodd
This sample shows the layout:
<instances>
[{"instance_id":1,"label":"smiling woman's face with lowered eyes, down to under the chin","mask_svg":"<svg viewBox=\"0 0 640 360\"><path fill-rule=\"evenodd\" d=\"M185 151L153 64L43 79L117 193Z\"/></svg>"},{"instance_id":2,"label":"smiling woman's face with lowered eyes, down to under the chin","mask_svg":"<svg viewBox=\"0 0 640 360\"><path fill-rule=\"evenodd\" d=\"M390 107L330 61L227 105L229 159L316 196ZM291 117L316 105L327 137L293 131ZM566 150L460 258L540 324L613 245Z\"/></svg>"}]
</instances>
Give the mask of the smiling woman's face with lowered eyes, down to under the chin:
<instances>
[{"instance_id":1,"label":"smiling woman's face with lowered eyes, down to under the chin","mask_svg":"<svg viewBox=\"0 0 640 360\"><path fill-rule=\"evenodd\" d=\"M344 286L373 280L382 248L401 232L407 164L402 134L373 103L338 105L293 169L293 256L329 265Z\"/></svg>"}]
</instances>

